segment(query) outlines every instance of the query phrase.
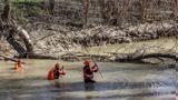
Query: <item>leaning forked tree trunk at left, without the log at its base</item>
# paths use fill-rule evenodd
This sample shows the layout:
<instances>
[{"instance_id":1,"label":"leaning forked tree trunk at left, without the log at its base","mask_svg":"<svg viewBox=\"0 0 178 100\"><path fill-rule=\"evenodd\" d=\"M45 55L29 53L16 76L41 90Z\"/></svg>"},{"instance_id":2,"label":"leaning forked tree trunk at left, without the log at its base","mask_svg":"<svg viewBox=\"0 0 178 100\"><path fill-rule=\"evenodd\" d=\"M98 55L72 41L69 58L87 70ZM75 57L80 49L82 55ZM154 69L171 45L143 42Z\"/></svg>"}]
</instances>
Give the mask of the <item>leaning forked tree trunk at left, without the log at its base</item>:
<instances>
[{"instance_id":1,"label":"leaning forked tree trunk at left, without the log at its base","mask_svg":"<svg viewBox=\"0 0 178 100\"><path fill-rule=\"evenodd\" d=\"M13 20L10 20L10 1L4 0L4 9L1 14L2 23L0 26L6 26L2 30L7 30L6 38L7 41L18 51L19 54L24 52L33 53L33 44L30 40L28 32L20 26L16 24ZM19 36L26 46L26 49L16 40L14 36Z\"/></svg>"}]
</instances>

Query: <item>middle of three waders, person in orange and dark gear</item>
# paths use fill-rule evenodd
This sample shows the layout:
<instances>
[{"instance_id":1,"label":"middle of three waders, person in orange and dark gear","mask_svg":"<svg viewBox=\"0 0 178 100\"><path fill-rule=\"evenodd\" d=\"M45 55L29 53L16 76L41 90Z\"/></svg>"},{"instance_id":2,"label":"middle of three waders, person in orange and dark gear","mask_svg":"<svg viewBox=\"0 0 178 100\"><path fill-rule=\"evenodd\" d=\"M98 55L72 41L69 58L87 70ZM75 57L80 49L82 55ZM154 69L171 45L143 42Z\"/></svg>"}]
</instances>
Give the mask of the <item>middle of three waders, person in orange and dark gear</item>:
<instances>
[{"instance_id":1,"label":"middle of three waders, person in orange and dark gear","mask_svg":"<svg viewBox=\"0 0 178 100\"><path fill-rule=\"evenodd\" d=\"M49 72L48 72L48 80L55 80L55 79L59 79L59 77L62 77L66 74L63 67L60 67L59 63L56 63L55 68L52 68Z\"/></svg>"}]
</instances>

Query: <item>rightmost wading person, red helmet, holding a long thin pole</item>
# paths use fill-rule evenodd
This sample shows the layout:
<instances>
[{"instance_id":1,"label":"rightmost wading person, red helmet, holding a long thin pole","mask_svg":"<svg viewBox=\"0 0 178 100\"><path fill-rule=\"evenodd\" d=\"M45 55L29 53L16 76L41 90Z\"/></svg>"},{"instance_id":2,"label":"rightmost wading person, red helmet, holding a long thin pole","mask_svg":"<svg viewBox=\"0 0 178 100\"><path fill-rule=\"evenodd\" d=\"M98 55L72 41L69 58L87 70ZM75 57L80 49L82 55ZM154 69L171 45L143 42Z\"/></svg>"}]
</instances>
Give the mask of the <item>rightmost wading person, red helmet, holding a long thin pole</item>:
<instances>
[{"instance_id":1,"label":"rightmost wading person, red helmet, holding a long thin pole","mask_svg":"<svg viewBox=\"0 0 178 100\"><path fill-rule=\"evenodd\" d=\"M93 72L98 71L98 66L95 64L93 67L90 66L90 61L86 60L83 67L83 80L85 82L96 82L93 80Z\"/></svg>"}]
</instances>

